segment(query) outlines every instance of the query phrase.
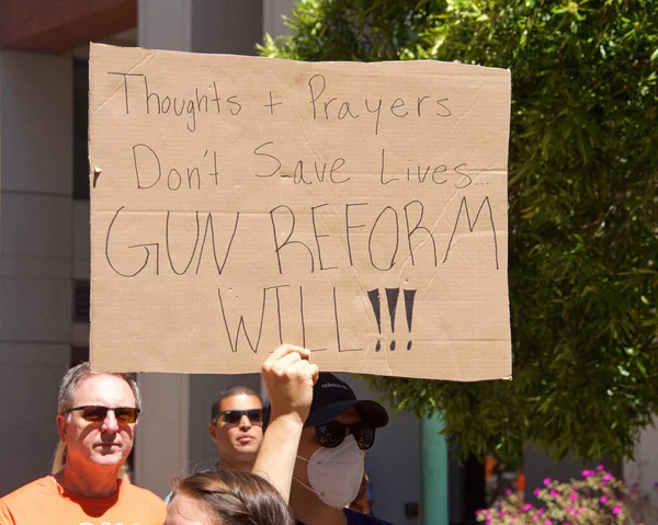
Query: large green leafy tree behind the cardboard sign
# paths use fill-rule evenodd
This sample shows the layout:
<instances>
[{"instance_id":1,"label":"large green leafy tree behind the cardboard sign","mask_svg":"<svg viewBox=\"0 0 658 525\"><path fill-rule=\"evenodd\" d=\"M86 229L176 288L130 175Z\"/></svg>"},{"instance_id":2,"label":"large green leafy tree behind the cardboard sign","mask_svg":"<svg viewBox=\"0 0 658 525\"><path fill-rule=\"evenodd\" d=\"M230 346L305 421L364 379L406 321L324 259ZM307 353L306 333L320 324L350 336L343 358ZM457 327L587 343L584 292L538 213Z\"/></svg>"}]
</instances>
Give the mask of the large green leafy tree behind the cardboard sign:
<instances>
[{"instance_id":1,"label":"large green leafy tree behind the cardboard sign","mask_svg":"<svg viewBox=\"0 0 658 525\"><path fill-rule=\"evenodd\" d=\"M658 2L306 0L265 56L509 68L513 381L371 378L462 455L632 456L658 406Z\"/></svg>"}]
</instances>

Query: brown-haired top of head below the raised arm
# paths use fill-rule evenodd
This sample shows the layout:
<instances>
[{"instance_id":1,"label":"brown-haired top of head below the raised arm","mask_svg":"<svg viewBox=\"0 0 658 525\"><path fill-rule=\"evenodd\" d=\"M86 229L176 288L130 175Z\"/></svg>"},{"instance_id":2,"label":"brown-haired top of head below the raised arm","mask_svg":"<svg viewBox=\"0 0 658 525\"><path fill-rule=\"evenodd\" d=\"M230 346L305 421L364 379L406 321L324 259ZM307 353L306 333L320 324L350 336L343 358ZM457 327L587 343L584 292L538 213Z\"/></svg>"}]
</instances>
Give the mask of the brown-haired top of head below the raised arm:
<instances>
[{"instance_id":1,"label":"brown-haired top of head below the raised arm","mask_svg":"<svg viewBox=\"0 0 658 525\"><path fill-rule=\"evenodd\" d=\"M290 507L263 478L240 470L193 473L178 482L173 498L201 503L206 514L228 525L295 525Z\"/></svg>"}]
</instances>

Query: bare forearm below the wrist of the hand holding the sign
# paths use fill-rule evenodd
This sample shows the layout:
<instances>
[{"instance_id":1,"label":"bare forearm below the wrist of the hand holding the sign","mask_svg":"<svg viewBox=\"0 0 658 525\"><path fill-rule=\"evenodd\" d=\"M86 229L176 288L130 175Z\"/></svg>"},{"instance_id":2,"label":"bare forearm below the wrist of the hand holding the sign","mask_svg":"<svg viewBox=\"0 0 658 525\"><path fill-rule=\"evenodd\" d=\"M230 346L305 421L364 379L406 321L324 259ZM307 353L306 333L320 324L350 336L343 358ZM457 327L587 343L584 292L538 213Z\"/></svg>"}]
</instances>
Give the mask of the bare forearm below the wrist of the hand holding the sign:
<instances>
[{"instance_id":1,"label":"bare forearm below the wrist of the hand holding the sign","mask_svg":"<svg viewBox=\"0 0 658 525\"><path fill-rule=\"evenodd\" d=\"M253 473L270 481L286 503L303 426L304 422L292 414L273 416L253 465Z\"/></svg>"}]
</instances>

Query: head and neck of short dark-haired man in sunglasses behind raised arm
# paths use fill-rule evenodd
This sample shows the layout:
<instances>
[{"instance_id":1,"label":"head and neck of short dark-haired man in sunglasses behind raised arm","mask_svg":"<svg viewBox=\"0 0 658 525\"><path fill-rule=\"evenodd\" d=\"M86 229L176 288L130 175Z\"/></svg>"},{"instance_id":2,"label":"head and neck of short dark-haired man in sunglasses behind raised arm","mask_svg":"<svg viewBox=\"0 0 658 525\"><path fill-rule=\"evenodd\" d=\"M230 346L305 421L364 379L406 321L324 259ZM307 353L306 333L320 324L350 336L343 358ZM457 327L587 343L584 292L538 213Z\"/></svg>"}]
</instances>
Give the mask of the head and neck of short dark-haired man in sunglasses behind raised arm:
<instances>
[{"instance_id":1,"label":"head and neck of short dark-haired man in sunglasses behind raised arm","mask_svg":"<svg viewBox=\"0 0 658 525\"><path fill-rule=\"evenodd\" d=\"M217 469L251 471L263 441L263 403L251 388L224 391L213 403L208 432L217 444Z\"/></svg>"}]
</instances>

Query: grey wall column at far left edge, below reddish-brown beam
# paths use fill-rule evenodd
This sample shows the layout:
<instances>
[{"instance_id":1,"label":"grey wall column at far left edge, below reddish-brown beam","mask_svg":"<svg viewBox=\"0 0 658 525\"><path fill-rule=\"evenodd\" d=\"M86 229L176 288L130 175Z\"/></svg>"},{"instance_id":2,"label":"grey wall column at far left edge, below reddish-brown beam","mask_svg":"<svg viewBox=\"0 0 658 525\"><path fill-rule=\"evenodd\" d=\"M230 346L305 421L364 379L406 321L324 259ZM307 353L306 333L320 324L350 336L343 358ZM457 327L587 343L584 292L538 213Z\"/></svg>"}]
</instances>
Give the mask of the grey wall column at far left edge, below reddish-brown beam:
<instances>
[{"instance_id":1,"label":"grey wall column at far left edge, below reddish-brown beam","mask_svg":"<svg viewBox=\"0 0 658 525\"><path fill-rule=\"evenodd\" d=\"M72 62L0 52L0 495L49 471L72 318Z\"/></svg>"}]
</instances>

